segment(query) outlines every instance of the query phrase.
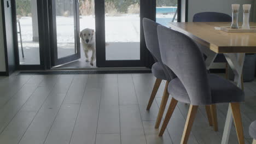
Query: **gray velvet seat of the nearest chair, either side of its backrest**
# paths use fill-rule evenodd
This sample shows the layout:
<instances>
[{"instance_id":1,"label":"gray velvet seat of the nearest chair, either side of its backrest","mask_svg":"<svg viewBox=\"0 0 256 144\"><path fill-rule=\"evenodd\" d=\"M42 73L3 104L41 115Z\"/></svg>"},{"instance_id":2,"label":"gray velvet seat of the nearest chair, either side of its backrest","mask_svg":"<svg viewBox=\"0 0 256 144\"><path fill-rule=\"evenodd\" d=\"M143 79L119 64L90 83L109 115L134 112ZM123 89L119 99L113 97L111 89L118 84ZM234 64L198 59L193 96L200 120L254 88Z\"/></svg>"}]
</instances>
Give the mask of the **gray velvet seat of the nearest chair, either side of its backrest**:
<instances>
[{"instance_id":1,"label":"gray velvet seat of the nearest chair, either side of its backrest","mask_svg":"<svg viewBox=\"0 0 256 144\"><path fill-rule=\"evenodd\" d=\"M211 88L212 104L245 101L245 94L234 83L214 74L208 74L208 80ZM189 95L178 78L170 82L168 92L174 99L190 104Z\"/></svg>"}]
</instances>

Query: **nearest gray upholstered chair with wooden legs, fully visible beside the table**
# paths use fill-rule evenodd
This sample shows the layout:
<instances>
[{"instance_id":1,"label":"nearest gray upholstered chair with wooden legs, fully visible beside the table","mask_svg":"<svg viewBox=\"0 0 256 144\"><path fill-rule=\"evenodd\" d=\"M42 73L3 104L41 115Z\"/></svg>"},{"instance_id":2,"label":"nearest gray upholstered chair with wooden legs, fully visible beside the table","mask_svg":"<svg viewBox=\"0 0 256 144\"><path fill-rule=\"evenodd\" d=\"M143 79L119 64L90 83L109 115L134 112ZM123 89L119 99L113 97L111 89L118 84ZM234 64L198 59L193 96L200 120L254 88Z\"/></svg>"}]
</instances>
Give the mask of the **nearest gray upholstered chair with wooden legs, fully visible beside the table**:
<instances>
[{"instance_id":1,"label":"nearest gray upholstered chair with wooden legs, fully visible beside the table","mask_svg":"<svg viewBox=\"0 0 256 144\"><path fill-rule=\"evenodd\" d=\"M162 136L178 103L190 104L181 143L187 143L199 105L216 107L230 103L239 143L244 143L240 102L245 100L243 91L220 76L208 74L202 53L195 42L164 26L158 26L158 39L162 62L177 78L168 84L172 96L159 136ZM216 117L213 118L217 121Z\"/></svg>"}]
</instances>

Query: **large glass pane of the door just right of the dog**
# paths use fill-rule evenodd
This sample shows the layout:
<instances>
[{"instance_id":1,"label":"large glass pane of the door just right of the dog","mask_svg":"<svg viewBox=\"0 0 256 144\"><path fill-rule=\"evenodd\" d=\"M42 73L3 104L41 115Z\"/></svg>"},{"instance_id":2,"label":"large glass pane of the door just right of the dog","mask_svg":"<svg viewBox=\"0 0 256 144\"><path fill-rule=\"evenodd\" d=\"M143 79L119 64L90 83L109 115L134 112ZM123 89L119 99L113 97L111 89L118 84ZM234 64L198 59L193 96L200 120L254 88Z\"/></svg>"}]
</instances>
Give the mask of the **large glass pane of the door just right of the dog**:
<instances>
[{"instance_id":1,"label":"large glass pane of the door just right of the dog","mask_svg":"<svg viewBox=\"0 0 256 144\"><path fill-rule=\"evenodd\" d=\"M140 59L139 0L105 1L106 60Z\"/></svg>"}]
</instances>

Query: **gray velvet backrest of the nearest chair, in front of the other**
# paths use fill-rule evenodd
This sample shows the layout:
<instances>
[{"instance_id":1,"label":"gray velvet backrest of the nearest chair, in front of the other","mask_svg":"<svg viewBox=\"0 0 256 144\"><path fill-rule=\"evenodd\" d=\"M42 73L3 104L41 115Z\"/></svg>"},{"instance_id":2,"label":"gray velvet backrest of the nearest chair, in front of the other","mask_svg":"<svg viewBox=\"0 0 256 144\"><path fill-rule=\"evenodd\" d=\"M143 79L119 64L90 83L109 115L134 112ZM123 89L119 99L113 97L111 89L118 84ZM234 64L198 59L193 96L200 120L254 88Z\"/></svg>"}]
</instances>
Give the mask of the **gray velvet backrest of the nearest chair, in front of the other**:
<instances>
[{"instance_id":1,"label":"gray velvet backrest of the nearest chair, in front of the other","mask_svg":"<svg viewBox=\"0 0 256 144\"><path fill-rule=\"evenodd\" d=\"M187 35L164 26L158 26L158 39L162 62L181 80L191 104L211 104L205 61L195 42Z\"/></svg>"}]
</instances>

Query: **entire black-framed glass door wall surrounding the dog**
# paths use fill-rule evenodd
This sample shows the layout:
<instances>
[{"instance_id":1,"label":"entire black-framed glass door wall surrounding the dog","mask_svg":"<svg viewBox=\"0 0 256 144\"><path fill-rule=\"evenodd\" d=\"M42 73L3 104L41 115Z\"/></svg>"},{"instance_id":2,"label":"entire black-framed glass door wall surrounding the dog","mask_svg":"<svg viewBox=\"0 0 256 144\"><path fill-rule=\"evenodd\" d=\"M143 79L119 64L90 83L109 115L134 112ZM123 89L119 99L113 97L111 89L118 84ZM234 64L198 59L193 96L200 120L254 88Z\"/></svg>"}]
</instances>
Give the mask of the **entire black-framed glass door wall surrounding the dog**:
<instances>
[{"instance_id":1,"label":"entire black-framed glass door wall surrounding the dog","mask_svg":"<svg viewBox=\"0 0 256 144\"><path fill-rule=\"evenodd\" d=\"M24 69L36 66L50 69L77 59L91 68L79 38L79 32L86 28L95 32L94 68L95 63L97 67L150 67L154 61L144 41L143 17L168 27L168 22L179 21L181 6L180 0L15 0L15 3L17 63Z\"/></svg>"}]
</instances>

